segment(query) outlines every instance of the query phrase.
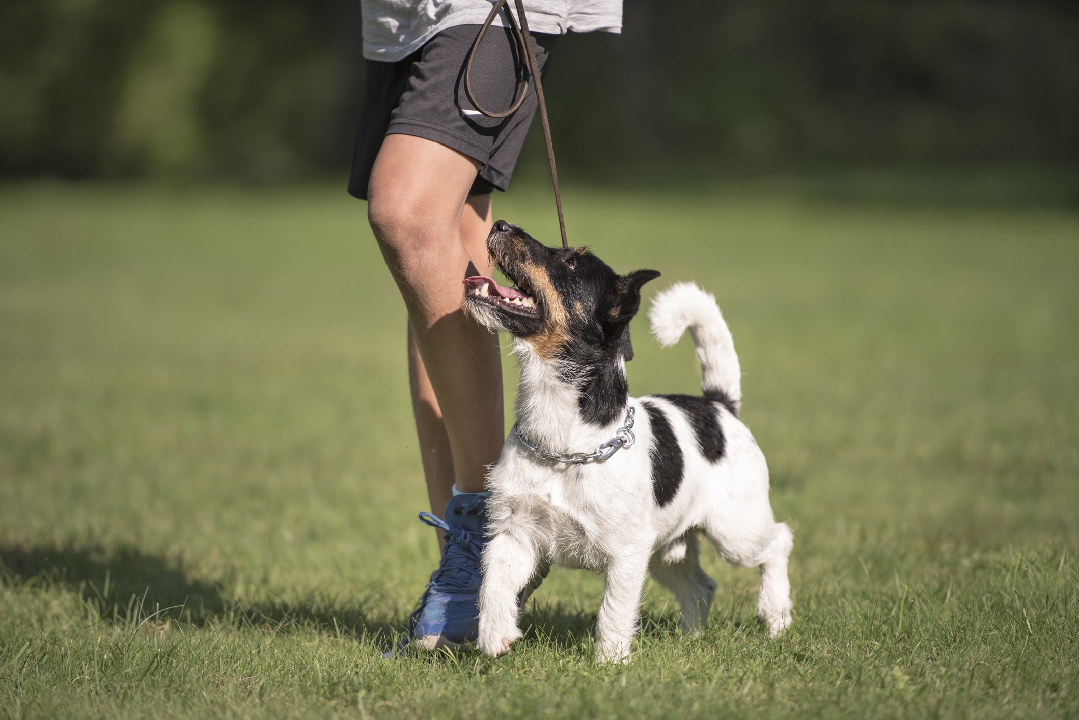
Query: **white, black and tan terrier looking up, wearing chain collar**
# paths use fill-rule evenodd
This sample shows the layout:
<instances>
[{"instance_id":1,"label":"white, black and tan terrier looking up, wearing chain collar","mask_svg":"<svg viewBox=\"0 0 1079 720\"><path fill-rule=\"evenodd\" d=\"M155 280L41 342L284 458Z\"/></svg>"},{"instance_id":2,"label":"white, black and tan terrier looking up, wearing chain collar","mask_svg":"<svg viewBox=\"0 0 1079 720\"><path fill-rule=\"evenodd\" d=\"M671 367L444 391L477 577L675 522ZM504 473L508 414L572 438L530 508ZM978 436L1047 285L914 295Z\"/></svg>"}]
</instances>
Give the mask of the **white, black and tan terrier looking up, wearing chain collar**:
<instances>
[{"instance_id":1,"label":"white, black and tan terrier looking up, wearing chain collar","mask_svg":"<svg viewBox=\"0 0 1079 720\"><path fill-rule=\"evenodd\" d=\"M680 283L650 314L665 346L692 333L704 396L632 398L629 321L659 273L618 275L585 248L548 248L502 220L487 247L516 287L465 278L463 307L513 336L520 387L515 431L487 479L479 650L509 650L552 564L605 576L600 663L629 661L650 572L674 594L681 626L699 633L715 582L700 568L698 534L725 560L760 566L757 615L769 636L784 632L793 536L773 515L764 454L738 419L741 371L715 299Z\"/></svg>"}]
</instances>

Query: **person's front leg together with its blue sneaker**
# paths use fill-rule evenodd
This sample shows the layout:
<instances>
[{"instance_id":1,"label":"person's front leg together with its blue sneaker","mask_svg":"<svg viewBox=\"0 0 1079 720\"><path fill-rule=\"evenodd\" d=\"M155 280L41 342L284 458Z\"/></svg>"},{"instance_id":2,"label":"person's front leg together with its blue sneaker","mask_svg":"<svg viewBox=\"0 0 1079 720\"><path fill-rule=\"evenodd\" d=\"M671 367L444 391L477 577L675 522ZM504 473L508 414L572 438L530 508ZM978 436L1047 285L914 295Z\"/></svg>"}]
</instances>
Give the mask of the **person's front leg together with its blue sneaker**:
<instances>
[{"instance_id":1,"label":"person's front leg together with its blue sneaker","mask_svg":"<svg viewBox=\"0 0 1079 720\"><path fill-rule=\"evenodd\" d=\"M476 638L486 542L486 497L479 493L503 441L498 338L461 309L461 281L478 272L469 250L477 251L479 216L489 214L482 202L467 204L475 178L467 155L393 134L368 186L368 219L408 308L416 350L410 354L413 406L435 511L421 518L445 534L438 569L409 620L408 642L426 650ZM452 493L452 484L464 494L442 511L440 497Z\"/></svg>"}]
</instances>

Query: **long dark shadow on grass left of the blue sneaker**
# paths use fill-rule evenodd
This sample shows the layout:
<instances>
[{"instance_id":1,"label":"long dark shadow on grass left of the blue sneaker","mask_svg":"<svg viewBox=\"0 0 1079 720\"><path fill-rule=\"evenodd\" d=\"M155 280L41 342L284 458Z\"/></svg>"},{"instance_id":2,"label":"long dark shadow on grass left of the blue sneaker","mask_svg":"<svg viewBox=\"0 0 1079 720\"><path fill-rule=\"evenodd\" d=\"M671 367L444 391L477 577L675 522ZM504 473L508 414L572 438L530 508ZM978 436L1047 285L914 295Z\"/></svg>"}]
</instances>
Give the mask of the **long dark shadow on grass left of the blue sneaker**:
<instances>
[{"instance_id":1,"label":"long dark shadow on grass left of the blue sneaker","mask_svg":"<svg viewBox=\"0 0 1079 720\"><path fill-rule=\"evenodd\" d=\"M105 622L129 623L151 613L202 626L220 622L237 627L292 627L360 638L390 646L407 618L372 610L377 593L340 601L312 595L293 604L249 603L231 598L221 585L190 577L182 565L136 548L0 546L0 584L59 587L76 593Z\"/></svg>"}]
</instances>

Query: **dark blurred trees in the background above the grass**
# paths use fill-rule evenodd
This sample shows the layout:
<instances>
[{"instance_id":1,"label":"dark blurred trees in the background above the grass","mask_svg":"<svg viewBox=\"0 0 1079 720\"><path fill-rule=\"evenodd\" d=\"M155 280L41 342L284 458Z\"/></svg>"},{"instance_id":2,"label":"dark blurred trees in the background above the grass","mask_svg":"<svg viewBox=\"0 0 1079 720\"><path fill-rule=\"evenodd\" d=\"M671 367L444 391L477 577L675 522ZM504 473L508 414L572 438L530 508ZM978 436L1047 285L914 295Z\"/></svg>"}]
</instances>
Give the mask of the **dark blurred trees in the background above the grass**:
<instances>
[{"instance_id":1,"label":"dark blurred trees in the background above the grass","mask_svg":"<svg viewBox=\"0 0 1079 720\"><path fill-rule=\"evenodd\" d=\"M1077 37L1074 0L627 0L623 36L558 45L559 158L1074 168ZM359 0L6 0L0 176L340 175L363 82Z\"/></svg>"}]
</instances>

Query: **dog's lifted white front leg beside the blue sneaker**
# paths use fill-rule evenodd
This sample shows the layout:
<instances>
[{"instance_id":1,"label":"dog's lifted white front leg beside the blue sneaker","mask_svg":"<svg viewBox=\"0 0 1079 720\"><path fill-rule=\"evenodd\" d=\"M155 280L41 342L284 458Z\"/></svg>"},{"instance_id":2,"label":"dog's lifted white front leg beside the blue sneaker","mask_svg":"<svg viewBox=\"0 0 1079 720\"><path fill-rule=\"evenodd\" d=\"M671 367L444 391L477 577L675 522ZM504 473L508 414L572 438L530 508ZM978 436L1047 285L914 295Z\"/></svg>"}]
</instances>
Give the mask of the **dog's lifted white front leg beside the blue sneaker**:
<instances>
[{"instance_id":1,"label":"dog's lifted white front leg beside the blue sneaker","mask_svg":"<svg viewBox=\"0 0 1079 720\"><path fill-rule=\"evenodd\" d=\"M483 549L483 581L479 587L479 649L497 657L521 636L517 596L536 569L532 543L502 532Z\"/></svg>"}]
</instances>

